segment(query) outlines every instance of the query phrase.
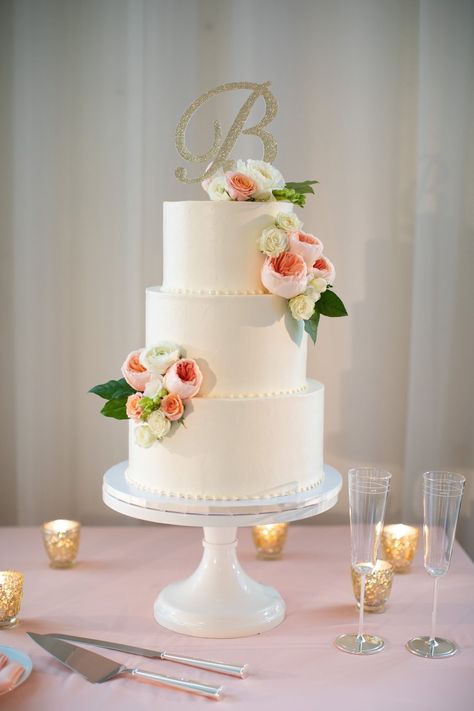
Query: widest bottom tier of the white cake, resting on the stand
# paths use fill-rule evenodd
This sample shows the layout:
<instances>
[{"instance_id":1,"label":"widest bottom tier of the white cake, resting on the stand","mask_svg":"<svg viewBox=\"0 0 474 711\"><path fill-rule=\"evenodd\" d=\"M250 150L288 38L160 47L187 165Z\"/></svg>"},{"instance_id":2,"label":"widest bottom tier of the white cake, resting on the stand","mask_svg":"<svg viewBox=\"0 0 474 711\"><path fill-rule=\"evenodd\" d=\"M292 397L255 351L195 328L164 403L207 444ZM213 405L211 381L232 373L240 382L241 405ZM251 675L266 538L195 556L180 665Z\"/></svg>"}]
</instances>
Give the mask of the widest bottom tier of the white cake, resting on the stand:
<instances>
[{"instance_id":1,"label":"widest bottom tier of the white cake, resting on the stand","mask_svg":"<svg viewBox=\"0 0 474 711\"><path fill-rule=\"evenodd\" d=\"M324 387L256 398L194 398L185 426L152 447L135 443L130 421L127 480L167 496L260 499L320 484Z\"/></svg>"}]
</instances>

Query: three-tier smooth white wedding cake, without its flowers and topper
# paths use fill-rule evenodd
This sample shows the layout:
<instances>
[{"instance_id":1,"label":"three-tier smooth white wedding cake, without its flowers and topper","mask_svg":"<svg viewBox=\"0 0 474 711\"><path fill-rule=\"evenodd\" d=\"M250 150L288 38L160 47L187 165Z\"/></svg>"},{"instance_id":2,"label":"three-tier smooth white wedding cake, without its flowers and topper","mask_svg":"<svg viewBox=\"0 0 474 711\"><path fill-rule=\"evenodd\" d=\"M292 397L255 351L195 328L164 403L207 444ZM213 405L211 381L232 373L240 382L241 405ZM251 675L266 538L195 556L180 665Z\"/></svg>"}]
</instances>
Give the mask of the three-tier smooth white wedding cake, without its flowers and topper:
<instances>
[{"instance_id":1,"label":"three-tier smooth white wedding cake, without its flowers and topper","mask_svg":"<svg viewBox=\"0 0 474 711\"><path fill-rule=\"evenodd\" d=\"M152 446L137 444L143 425L130 420L131 484L236 500L322 481L324 388L306 378L304 322L264 289L257 249L262 230L292 210L276 201L164 204L163 285L147 290L146 343L180 344L203 378L183 425Z\"/></svg>"}]
</instances>

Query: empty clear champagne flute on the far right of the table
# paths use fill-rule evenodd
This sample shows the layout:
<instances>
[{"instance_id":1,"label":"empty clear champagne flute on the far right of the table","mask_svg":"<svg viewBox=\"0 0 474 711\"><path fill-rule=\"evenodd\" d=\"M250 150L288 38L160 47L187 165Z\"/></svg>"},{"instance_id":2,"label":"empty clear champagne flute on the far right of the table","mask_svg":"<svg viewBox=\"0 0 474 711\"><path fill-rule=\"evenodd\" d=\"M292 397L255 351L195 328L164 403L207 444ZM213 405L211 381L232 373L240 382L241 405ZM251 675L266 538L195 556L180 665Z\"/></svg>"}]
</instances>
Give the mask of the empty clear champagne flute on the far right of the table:
<instances>
[{"instance_id":1,"label":"empty clear champagne flute on the far right of the table","mask_svg":"<svg viewBox=\"0 0 474 711\"><path fill-rule=\"evenodd\" d=\"M424 564L426 572L434 578L434 592L430 635L413 637L407 642L407 649L419 657L451 657L458 651L454 642L436 637L435 629L439 579L448 572L451 562L465 481L465 477L454 472L423 474Z\"/></svg>"}]
</instances>

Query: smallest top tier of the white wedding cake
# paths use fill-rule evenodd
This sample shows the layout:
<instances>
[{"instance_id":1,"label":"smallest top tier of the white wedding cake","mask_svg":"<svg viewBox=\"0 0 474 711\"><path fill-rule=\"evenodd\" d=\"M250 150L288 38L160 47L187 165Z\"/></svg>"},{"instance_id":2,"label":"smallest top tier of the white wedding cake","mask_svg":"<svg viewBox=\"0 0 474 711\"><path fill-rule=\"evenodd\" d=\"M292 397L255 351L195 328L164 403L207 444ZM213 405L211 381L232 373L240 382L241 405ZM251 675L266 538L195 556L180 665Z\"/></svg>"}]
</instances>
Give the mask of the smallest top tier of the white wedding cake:
<instances>
[{"instance_id":1,"label":"smallest top tier of the white wedding cake","mask_svg":"<svg viewBox=\"0 0 474 711\"><path fill-rule=\"evenodd\" d=\"M165 202L163 290L263 294L257 239L287 202Z\"/></svg>"}]
</instances>

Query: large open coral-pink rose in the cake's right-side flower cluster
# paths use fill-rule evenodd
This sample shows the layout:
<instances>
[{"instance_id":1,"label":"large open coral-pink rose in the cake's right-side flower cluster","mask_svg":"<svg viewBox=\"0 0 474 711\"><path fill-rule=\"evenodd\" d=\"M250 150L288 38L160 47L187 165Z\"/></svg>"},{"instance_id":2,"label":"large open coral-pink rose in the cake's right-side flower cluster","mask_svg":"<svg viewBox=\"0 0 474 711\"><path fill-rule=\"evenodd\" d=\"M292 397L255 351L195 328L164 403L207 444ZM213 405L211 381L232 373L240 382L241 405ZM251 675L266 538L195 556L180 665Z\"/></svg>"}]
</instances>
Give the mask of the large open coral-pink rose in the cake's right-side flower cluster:
<instances>
[{"instance_id":1,"label":"large open coral-pink rose in the cake's right-side flower cluster","mask_svg":"<svg viewBox=\"0 0 474 711\"><path fill-rule=\"evenodd\" d=\"M262 267L262 283L271 294L291 299L306 291L308 269L303 257L283 252L268 257Z\"/></svg>"}]
</instances>

